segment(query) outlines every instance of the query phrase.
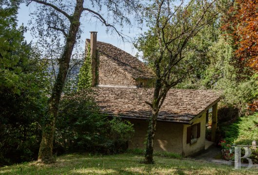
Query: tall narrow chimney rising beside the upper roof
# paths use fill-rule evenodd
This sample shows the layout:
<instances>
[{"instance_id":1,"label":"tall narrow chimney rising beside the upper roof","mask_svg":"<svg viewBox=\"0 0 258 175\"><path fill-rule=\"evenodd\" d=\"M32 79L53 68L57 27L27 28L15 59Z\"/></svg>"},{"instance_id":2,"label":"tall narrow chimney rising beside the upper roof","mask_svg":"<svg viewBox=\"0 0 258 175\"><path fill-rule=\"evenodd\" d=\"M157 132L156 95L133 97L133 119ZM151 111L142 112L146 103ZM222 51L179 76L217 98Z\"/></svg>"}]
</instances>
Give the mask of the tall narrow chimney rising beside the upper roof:
<instances>
[{"instance_id":1,"label":"tall narrow chimney rising beside the upper roof","mask_svg":"<svg viewBox=\"0 0 258 175\"><path fill-rule=\"evenodd\" d=\"M97 32L91 32L92 87L98 84Z\"/></svg>"}]
</instances>

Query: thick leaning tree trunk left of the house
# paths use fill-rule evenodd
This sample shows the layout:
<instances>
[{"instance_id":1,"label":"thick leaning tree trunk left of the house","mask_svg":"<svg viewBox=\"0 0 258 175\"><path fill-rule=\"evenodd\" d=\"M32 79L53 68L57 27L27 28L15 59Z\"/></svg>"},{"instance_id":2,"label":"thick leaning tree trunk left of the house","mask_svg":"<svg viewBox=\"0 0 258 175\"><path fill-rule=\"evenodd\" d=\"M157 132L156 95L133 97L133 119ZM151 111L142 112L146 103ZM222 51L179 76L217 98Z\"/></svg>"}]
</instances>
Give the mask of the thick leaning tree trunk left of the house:
<instances>
[{"instance_id":1,"label":"thick leaning tree trunk left of the house","mask_svg":"<svg viewBox=\"0 0 258 175\"><path fill-rule=\"evenodd\" d=\"M71 24L69 33L66 38L65 49L59 61L58 75L55 80L51 98L49 100L48 112L44 118L42 140L38 152L38 161L42 161L44 163L55 162L52 154L55 133L55 119L57 116L58 105L69 68L69 62L74 49L76 35L80 26L79 21L83 11L83 1L84 0L77 0L76 6L74 8L74 14L70 19Z\"/></svg>"}]
</instances>

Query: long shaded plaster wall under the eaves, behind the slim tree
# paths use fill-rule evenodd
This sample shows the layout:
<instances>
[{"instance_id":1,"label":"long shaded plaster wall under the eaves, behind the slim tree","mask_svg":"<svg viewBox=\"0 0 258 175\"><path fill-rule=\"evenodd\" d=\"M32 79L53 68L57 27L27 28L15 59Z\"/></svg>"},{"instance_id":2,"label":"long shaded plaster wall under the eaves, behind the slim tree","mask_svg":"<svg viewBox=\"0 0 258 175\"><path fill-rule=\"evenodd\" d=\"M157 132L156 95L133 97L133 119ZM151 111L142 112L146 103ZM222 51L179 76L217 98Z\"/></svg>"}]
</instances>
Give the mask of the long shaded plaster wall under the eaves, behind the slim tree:
<instances>
[{"instance_id":1,"label":"long shaded plaster wall under the eaves, behind the slim tree","mask_svg":"<svg viewBox=\"0 0 258 175\"><path fill-rule=\"evenodd\" d=\"M134 124L135 134L129 141L129 148L146 148L146 137L148 121L129 120ZM157 122L156 136L154 140L154 151L168 151L173 153L183 153L183 124Z\"/></svg>"}]
</instances>

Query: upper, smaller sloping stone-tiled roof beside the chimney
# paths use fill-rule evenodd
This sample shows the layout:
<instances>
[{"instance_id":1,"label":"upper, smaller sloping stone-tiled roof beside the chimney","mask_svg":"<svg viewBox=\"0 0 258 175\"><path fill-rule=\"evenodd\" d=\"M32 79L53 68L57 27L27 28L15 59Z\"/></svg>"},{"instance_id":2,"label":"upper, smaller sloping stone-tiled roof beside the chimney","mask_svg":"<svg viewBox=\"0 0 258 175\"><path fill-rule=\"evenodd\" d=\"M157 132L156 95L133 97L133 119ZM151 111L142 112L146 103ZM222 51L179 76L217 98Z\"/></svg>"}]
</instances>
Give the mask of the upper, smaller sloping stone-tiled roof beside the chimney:
<instances>
[{"instance_id":1,"label":"upper, smaller sloping stone-tiled roof beside the chimney","mask_svg":"<svg viewBox=\"0 0 258 175\"><path fill-rule=\"evenodd\" d=\"M90 43L90 41L90 39L86 39L86 43ZM97 51L110 58L114 64L128 72L133 78L153 78L152 72L143 62L111 44L97 41Z\"/></svg>"}]
</instances>

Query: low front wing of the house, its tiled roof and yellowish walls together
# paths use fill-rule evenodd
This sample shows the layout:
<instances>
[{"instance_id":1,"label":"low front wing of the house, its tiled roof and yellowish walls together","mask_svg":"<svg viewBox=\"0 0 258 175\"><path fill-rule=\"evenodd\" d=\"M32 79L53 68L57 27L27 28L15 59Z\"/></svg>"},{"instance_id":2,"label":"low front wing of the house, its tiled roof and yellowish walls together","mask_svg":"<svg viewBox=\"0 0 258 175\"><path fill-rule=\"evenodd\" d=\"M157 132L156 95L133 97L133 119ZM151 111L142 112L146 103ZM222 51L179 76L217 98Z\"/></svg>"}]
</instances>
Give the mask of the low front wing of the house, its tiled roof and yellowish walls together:
<instances>
[{"instance_id":1,"label":"low front wing of the house, its tiled roof and yellowish walls together","mask_svg":"<svg viewBox=\"0 0 258 175\"><path fill-rule=\"evenodd\" d=\"M145 149L153 88L93 88L101 111L111 117L129 120L135 134L129 148ZM155 151L174 152L184 156L205 148L206 111L212 108L212 140L215 141L217 104L220 97L210 90L170 89L156 125Z\"/></svg>"}]
</instances>

